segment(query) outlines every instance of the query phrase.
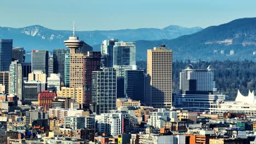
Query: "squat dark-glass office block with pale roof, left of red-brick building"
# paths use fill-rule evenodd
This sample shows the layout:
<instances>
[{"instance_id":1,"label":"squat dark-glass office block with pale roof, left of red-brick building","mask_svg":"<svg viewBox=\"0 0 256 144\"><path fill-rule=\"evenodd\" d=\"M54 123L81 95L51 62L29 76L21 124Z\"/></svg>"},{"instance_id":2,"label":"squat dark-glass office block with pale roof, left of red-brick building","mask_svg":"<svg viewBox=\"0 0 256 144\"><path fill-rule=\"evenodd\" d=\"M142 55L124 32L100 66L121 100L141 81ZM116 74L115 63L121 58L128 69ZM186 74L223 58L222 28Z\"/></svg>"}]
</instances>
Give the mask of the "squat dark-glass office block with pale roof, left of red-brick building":
<instances>
[{"instance_id":1,"label":"squat dark-glass office block with pale roof, left of red-brick building","mask_svg":"<svg viewBox=\"0 0 256 144\"><path fill-rule=\"evenodd\" d=\"M24 102L37 104L38 93L46 90L46 83L39 81L24 81Z\"/></svg>"}]
</instances>

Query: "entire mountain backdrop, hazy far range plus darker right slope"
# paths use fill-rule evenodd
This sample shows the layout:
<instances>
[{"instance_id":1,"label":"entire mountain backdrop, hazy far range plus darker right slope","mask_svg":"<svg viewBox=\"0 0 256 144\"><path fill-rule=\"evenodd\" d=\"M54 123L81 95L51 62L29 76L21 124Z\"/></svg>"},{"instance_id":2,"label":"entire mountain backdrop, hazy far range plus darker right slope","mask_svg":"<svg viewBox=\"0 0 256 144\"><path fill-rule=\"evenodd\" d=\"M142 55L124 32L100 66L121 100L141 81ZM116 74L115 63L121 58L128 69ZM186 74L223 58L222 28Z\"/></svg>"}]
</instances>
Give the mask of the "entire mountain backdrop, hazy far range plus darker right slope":
<instances>
[{"instance_id":1,"label":"entire mountain backdrop, hazy far range plus darker right slope","mask_svg":"<svg viewBox=\"0 0 256 144\"><path fill-rule=\"evenodd\" d=\"M14 46L49 50L65 49L63 40L68 39L71 31L57 31L39 25L25 28L0 27L0 39L14 39ZM100 51L104 39L115 38L123 41L135 41L137 58L147 58L147 49L165 44L173 50L173 60L181 61L256 61L256 17L237 19L223 25L185 28L168 26L159 28L121 29L116 31L75 32L79 39ZM254 55L253 55L254 53Z\"/></svg>"}]
</instances>

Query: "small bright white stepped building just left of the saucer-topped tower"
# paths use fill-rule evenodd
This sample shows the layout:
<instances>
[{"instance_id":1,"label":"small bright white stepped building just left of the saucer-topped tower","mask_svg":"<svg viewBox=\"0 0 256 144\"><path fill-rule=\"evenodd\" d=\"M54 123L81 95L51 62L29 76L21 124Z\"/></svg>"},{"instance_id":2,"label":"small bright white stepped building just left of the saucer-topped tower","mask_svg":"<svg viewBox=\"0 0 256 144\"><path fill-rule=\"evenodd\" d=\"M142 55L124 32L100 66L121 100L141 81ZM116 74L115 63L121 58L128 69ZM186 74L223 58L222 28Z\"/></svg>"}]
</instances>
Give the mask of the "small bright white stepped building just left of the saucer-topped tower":
<instances>
[{"instance_id":1,"label":"small bright white stepped building just left of the saucer-topped tower","mask_svg":"<svg viewBox=\"0 0 256 144\"><path fill-rule=\"evenodd\" d=\"M48 91L60 91L61 89L61 81L60 74L51 74L47 77L47 90Z\"/></svg>"}]
</instances>

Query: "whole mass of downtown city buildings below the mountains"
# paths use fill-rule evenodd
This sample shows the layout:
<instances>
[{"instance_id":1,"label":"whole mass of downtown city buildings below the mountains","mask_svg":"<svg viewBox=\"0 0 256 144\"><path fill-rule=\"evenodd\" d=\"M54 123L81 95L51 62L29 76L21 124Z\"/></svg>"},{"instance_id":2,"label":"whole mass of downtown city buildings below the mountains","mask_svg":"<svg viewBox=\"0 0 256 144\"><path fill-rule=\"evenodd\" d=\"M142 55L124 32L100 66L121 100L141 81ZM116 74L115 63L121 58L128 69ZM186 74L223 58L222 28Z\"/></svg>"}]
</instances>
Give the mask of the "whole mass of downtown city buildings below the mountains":
<instances>
[{"instance_id":1,"label":"whole mass of downtown city buildings below the mountains","mask_svg":"<svg viewBox=\"0 0 256 144\"><path fill-rule=\"evenodd\" d=\"M73 35L53 52L0 39L1 143L256 143L256 100L218 91L214 70L188 65L172 91L173 52L103 40L93 51ZM171 48L171 47L170 47Z\"/></svg>"}]
</instances>

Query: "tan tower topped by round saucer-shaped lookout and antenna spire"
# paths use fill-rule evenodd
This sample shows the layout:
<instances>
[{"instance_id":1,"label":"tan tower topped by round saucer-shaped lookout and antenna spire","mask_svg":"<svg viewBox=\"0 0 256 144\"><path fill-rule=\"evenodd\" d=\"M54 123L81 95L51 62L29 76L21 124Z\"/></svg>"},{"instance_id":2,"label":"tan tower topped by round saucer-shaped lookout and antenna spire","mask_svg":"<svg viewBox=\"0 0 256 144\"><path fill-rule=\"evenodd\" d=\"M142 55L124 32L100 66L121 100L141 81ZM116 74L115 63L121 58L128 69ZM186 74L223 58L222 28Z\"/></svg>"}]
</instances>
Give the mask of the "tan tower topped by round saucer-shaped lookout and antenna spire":
<instances>
[{"instance_id":1,"label":"tan tower topped by round saucer-shaped lookout and antenna spire","mask_svg":"<svg viewBox=\"0 0 256 144\"><path fill-rule=\"evenodd\" d=\"M74 34L64 41L65 45L69 47L70 51L70 65L69 65L69 87L84 87L84 56L87 53L78 53L78 49L84 45L84 41L79 40Z\"/></svg>"}]
</instances>

